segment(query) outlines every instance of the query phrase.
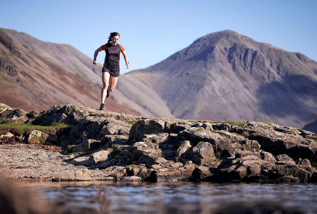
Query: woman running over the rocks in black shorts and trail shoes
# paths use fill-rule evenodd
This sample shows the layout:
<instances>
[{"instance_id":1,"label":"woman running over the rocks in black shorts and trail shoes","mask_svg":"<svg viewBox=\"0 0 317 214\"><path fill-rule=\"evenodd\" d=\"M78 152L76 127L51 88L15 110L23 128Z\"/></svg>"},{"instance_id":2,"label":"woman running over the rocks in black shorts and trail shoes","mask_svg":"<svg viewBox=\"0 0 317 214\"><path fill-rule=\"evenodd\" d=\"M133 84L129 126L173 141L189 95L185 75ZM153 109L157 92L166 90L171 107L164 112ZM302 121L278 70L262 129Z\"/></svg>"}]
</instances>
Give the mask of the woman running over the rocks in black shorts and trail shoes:
<instances>
[{"instance_id":1,"label":"woman running over the rocks in black shorts and trail shoes","mask_svg":"<svg viewBox=\"0 0 317 214\"><path fill-rule=\"evenodd\" d=\"M103 87L101 89L101 105L99 110L105 109L105 99L109 97L110 91L113 91L117 85L118 77L120 75L120 52L122 52L124 60L126 61L126 68L129 68L126 51L122 45L118 44L120 34L117 32L110 33L108 39L108 43L101 45L94 54L93 64L96 65L98 53L102 50L106 52L105 62L102 68Z\"/></svg>"}]
</instances>

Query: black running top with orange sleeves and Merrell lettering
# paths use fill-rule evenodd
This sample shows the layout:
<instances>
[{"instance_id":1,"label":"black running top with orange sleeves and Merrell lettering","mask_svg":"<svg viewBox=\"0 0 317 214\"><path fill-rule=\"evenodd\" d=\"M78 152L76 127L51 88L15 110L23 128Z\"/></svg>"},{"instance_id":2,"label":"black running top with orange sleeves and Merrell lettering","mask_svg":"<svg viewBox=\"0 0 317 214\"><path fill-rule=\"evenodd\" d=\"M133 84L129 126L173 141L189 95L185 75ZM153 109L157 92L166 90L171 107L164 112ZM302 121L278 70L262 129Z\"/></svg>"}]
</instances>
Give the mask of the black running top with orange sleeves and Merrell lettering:
<instances>
[{"instance_id":1,"label":"black running top with orange sleeves and Merrell lettering","mask_svg":"<svg viewBox=\"0 0 317 214\"><path fill-rule=\"evenodd\" d=\"M120 52L124 51L124 47L122 45L116 44L112 45L104 44L101 45L100 48L106 52L105 63L103 67L108 68L109 70L119 70L120 69Z\"/></svg>"}]
</instances>

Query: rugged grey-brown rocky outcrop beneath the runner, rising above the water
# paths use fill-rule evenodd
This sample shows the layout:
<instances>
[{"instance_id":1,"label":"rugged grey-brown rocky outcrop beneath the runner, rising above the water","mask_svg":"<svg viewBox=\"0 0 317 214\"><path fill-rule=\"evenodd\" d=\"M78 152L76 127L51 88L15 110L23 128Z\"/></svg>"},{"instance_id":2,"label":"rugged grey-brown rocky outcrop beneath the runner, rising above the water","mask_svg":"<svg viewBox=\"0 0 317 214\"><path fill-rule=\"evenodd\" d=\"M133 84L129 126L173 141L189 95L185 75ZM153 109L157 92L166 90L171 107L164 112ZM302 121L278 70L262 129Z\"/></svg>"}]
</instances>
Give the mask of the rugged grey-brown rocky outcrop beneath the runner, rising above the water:
<instances>
[{"instance_id":1,"label":"rugged grey-brown rocky outcrop beneath the runner, rising above the water","mask_svg":"<svg viewBox=\"0 0 317 214\"><path fill-rule=\"evenodd\" d=\"M54 106L26 122L69 124L46 143L59 145L59 135L67 135L74 146L65 154L75 153L68 162L107 172L105 180L317 182L317 134L299 128L142 118L72 105ZM17 138L0 134L3 143Z\"/></svg>"}]
</instances>

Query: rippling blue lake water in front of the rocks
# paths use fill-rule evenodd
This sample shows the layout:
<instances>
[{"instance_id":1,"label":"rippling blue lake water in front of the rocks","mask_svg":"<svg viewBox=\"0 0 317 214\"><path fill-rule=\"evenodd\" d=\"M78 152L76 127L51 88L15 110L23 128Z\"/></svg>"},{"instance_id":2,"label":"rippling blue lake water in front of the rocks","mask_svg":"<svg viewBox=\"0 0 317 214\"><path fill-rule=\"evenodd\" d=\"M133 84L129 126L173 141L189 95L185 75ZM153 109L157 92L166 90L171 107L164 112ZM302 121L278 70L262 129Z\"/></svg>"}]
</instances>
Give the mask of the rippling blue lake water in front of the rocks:
<instances>
[{"instance_id":1,"label":"rippling blue lake water in front of the rocks","mask_svg":"<svg viewBox=\"0 0 317 214\"><path fill-rule=\"evenodd\" d=\"M56 204L61 213L214 213L232 203L278 204L293 211L317 213L316 184L94 181L18 185Z\"/></svg>"}]
</instances>

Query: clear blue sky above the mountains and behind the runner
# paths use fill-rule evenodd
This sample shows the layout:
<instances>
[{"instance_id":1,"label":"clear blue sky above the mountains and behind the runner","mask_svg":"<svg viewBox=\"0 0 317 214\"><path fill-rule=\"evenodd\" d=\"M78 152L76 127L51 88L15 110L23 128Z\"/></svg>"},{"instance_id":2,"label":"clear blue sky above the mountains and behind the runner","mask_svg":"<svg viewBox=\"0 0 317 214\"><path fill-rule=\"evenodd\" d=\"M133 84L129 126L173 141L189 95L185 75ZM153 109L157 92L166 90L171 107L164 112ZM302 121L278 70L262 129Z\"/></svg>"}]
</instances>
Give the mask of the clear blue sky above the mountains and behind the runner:
<instances>
[{"instance_id":1,"label":"clear blue sky above the mountains and behind the runner","mask_svg":"<svg viewBox=\"0 0 317 214\"><path fill-rule=\"evenodd\" d=\"M13 0L0 7L1 28L70 44L91 58L110 32L119 32L130 61L121 73L154 65L225 29L317 61L316 0ZM97 61L103 60L100 52Z\"/></svg>"}]
</instances>

